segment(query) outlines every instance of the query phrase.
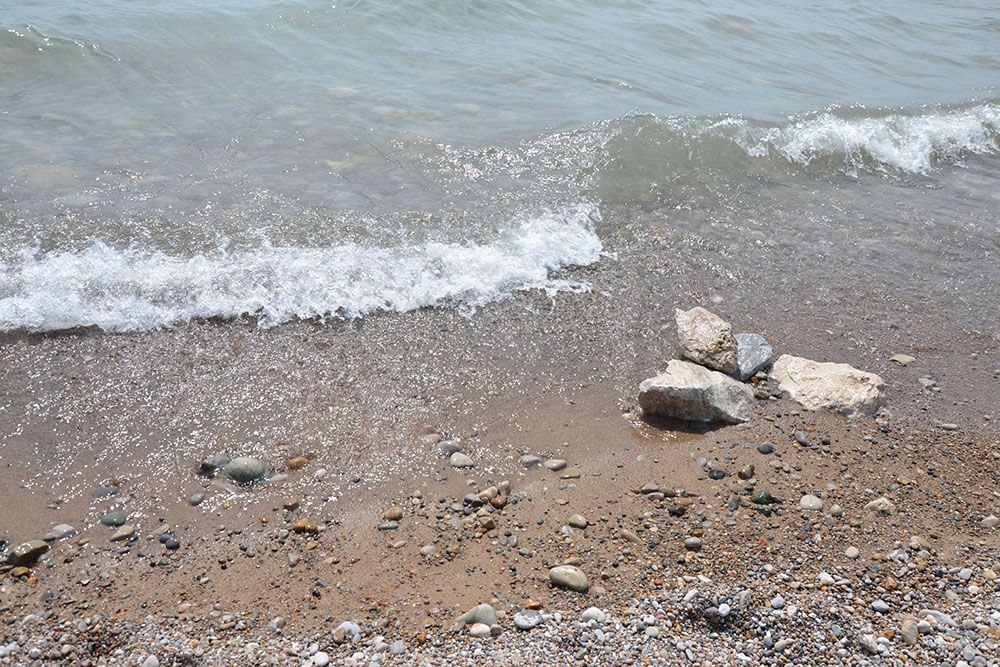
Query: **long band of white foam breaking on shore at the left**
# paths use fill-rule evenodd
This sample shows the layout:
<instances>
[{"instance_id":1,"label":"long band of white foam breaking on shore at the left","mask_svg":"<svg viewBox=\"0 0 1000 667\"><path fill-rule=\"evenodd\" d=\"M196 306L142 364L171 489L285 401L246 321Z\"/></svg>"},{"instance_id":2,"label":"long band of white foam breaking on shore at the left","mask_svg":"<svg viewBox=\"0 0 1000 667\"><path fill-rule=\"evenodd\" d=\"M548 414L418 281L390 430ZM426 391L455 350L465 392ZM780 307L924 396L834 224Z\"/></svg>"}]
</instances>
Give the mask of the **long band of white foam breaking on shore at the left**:
<instances>
[{"instance_id":1,"label":"long band of white foam breaking on shore at the left","mask_svg":"<svg viewBox=\"0 0 1000 667\"><path fill-rule=\"evenodd\" d=\"M0 330L97 326L136 331L194 319L354 318L425 306L477 307L515 290L587 289L554 279L597 262L595 205L522 219L492 243L264 246L180 257L94 241L80 252L24 250L0 263Z\"/></svg>"}]
</instances>

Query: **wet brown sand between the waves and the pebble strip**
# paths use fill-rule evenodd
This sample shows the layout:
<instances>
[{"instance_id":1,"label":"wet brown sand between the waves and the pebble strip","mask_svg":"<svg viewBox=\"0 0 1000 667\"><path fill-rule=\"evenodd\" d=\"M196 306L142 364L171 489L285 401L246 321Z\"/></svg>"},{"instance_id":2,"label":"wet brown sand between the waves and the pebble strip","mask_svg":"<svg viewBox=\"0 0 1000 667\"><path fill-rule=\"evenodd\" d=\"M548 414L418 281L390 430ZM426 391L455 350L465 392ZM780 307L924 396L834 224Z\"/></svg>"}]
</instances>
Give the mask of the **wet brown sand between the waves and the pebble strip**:
<instances>
[{"instance_id":1,"label":"wet brown sand between the waves and the pebble strip","mask_svg":"<svg viewBox=\"0 0 1000 667\"><path fill-rule=\"evenodd\" d=\"M58 523L80 533L54 542L30 574L0 573L0 612L11 624L51 611L47 621L102 614L112 626L211 628L221 637L215 660L244 632L220 630L223 614L254 636L281 616L285 636L324 646L353 619L405 639L415 660L413 647L451 636L455 617L480 602L508 616L527 598L627 616L630 600L665 594L684 576L735 582L762 560L814 577L825 559L863 578L913 535L940 567L995 563L996 530L982 520L1000 509L1000 225L995 202L962 201L871 181L798 196L752 189L667 212L610 206L598 230L608 257L565 276L592 291L520 294L471 316L428 309L273 329L8 335L0 539L37 539ZM739 427L643 421L638 383L678 354L674 307L698 304L736 331L765 335L776 354L879 373L889 415L848 420L773 398ZM900 366L895 353L917 360ZM796 444L795 431L811 446ZM460 439L476 467L450 468L427 434ZM764 441L775 454L756 450ZM221 450L287 478L243 489L195 474ZM580 476L526 470L522 454L566 459ZM290 469L300 455L309 463ZM747 463L758 487L786 501L770 516L745 499L731 505ZM729 474L711 479L710 468ZM511 500L497 527L463 528L463 497L504 480ZM117 495L94 498L107 483ZM675 516L676 500L636 493L646 484L683 490L690 504ZM814 491L845 517L801 513L799 496ZM195 493L206 496L197 507ZM864 511L881 495L900 508L895 516ZM399 527L379 530L394 505ZM138 535L123 553L98 523L119 506ZM591 526L562 534L572 514ZM321 532L279 532L300 518ZM178 550L160 544L165 531ZM501 544L505 532L516 547ZM682 546L692 534L698 552ZM426 545L436 553L421 555ZM845 560L847 546L861 560ZM293 567L290 554L301 558ZM549 585L548 568L567 559L590 574L586 596ZM920 595L945 603L933 587ZM109 650L141 652L116 642ZM351 653L341 650L337 659ZM636 650L636 660L647 655Z\"/></svg>"}]
</instances>

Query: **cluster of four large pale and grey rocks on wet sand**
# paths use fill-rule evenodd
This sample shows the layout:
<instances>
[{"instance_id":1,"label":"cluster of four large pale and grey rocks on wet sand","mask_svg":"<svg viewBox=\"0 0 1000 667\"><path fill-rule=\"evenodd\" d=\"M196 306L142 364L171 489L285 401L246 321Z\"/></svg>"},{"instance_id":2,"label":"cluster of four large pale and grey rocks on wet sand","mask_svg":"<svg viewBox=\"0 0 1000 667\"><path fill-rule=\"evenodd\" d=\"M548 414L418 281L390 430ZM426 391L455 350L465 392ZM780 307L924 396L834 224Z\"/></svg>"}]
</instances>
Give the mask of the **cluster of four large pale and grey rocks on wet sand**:
<instances>
[{"instance_id":1,"label":"cluster of four large pale and grey rocks on wet sand","mask_svg":"<svg viewBox=\"0 0 1000 667\"><path fill-rule=\"evenodd\" d=\"M639 385L639 405L647 415L747 422L759 396L752 385L769 378L808 410L853 416L869 414L881 403L884 383L874 373L788 354L774 361L773 348L763 336L733 335L728 322L704 308L678 309L675 316L678 341L690 361L672 359L663 373Z\"/></svg>"}]
</instances>

